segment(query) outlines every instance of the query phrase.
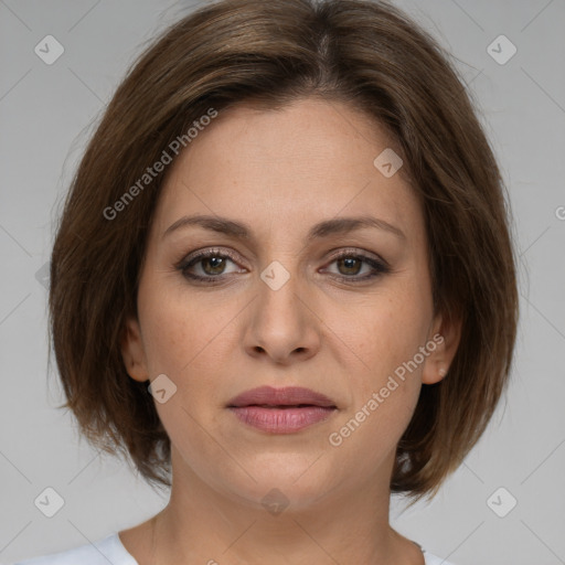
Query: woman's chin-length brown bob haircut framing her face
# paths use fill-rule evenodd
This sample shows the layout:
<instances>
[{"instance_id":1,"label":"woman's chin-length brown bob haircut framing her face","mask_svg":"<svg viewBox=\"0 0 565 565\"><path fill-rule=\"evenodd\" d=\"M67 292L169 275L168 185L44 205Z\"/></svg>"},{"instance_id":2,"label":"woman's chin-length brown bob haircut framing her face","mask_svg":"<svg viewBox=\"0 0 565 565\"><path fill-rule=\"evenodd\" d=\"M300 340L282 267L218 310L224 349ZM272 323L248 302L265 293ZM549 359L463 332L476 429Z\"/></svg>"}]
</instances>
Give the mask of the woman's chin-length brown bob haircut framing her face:
<instances>
[{"instance_id":1,"label":"woman's chin-length brown bob haircut framing her face","mask_svg":"<svg viewBox=\"0 0 565 565\"><path fill-rule=\"evenodd\" d=\"M188 147L186 131L211 108L277 109L307 96L363 111L398 148L425 216L434 311L461 321L446 377L422 386L397 446L391 492L412 505L435 497L505 391L516 258L505 188L462 78L449 54L386 2L222 0L185 15L138 57L92 136L55 234L50 337L67 398L57 408L73 411L92 445L129 456L151 487L171 486L170 439L149 381L128 375L120 348L126 318L137 317L167 174L153 171L147 185L139 179L174 140Z\"/></svg>"}]
</instances>

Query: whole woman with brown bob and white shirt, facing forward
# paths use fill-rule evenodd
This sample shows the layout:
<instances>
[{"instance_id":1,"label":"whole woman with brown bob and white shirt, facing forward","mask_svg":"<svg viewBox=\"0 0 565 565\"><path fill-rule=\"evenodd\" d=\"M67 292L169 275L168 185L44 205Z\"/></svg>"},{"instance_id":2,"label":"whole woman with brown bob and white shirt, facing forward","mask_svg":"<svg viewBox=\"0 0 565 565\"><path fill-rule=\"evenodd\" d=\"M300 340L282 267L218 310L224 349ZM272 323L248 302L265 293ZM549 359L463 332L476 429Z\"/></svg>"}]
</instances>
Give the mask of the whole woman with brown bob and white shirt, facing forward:
<instances>
[{"instance_id":1,"label":"whole woman with brown bob and white shirt, facing forward","mask_svg":"<svg viewBox=\"0 0 565 565\"><path fill-rule=\"evenodd\" d=\"M170 501L22 563L447 564L390 498L435 495L508 383L505 205L447 54L390 4L178 22L85 152L50 290L64 406Z\"/></svg>"}]
</instances>

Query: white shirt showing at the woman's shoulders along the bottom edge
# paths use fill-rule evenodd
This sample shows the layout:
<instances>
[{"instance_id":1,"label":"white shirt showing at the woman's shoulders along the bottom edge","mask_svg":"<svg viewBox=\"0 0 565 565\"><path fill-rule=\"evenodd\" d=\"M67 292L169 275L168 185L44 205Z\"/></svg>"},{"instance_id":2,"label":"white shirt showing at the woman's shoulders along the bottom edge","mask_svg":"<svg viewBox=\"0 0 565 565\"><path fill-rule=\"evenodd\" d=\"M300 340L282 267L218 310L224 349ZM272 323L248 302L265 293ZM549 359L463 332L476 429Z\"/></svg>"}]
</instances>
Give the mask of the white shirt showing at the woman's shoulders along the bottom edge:
<instances>
[{"instance_id":1,"label":"white shirt showing at the woman's shoulders along the bottom edge","mask_svg":"<svg viewBox=\"0 0 565 565\"><path fill-rule=\"evenodd\" d=\"M419 545L419 544L417 544ZM431 555L420 546L426 565L454 565ZM8 565L138 565L121 543L118 533L107 535L94 544L85 544L60 553L50 553L39 557Z\"/></svg>"}]
</instances>

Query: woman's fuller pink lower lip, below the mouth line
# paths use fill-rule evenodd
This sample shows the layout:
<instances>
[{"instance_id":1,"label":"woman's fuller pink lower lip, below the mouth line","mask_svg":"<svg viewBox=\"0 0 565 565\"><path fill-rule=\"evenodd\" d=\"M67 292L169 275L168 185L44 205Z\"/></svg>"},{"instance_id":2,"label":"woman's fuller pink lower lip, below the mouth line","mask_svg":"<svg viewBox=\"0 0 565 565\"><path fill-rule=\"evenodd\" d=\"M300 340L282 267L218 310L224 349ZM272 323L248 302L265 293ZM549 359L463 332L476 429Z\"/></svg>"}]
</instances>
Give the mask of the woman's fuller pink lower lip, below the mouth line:
<instances>
[{"instance_id":1,"label":"woman's fuller pink lower lip, below the mouth line","mask_svg":"<svg viewBox=\"0 0 565 565\"><path fill-rule=\"evenodd\" d=\"M271 434L290 434L328 419L337 408L305 406L302 408L264 408L243 406L230 409L245 424Z\"/></svg>"}]
</instances>

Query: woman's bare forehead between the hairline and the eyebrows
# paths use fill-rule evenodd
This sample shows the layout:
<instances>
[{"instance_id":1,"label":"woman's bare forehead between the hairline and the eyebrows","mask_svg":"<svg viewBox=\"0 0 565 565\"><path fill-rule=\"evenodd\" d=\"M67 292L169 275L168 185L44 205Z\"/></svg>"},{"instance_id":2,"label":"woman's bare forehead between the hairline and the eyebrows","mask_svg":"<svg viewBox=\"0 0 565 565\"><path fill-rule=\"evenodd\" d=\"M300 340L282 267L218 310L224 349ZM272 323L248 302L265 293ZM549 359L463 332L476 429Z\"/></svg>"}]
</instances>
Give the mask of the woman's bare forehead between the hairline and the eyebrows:
<instances>
[{"instance_id":1,"label":"woman's bare forehead between the hairline and the eyebrows","mask_svg":"<svg viewBox=\"0 0 565 565\"><path fill-rule=\"evenodd\" d=\"M374 164L391 145L375 120L343 103L234 106L171 164L156 228L162 234L183 214L201 213L239 218L258 233L290 226L306 233L322 220L371 213L422 237L405 175L387 178Z\"/></svg>"}]
</instances>

